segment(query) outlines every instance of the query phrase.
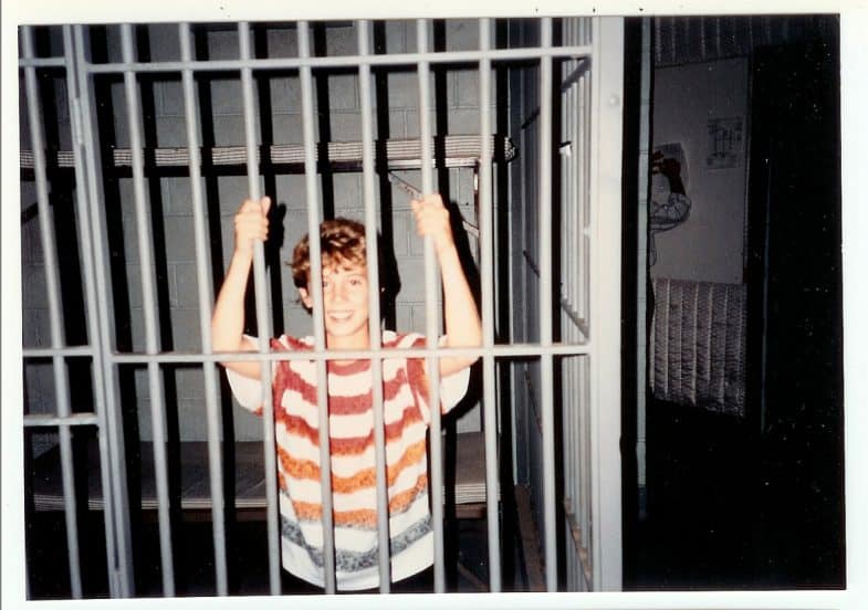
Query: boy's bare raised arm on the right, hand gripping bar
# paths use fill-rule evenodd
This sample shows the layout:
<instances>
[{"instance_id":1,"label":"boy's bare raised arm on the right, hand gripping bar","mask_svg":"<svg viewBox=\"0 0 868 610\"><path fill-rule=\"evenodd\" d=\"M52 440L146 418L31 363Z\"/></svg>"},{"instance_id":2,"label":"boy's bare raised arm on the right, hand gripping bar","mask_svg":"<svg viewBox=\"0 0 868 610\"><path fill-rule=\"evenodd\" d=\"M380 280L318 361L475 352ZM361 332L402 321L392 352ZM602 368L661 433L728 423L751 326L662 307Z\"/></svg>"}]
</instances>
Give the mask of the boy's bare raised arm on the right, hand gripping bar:
<instances>
[{"instance_id":1,"label":"boy's bare raised arm on the right, hand gripping bar","mask_svg":"<svg viewBox=\"0 0 868 610\"><path fill-rule=\"evenodd\" d=\"M456 250L452 229L449 224L449 210L439 194L427 194L421 200L410 202L416 215L416 231L419 235L431 235L440 264L443 282L443 309L446 318L447 347L478 347L482 345L482 323L479 309L470 291L464 270ZM469 367L479 358L440 358L440 375L448 376Z\"/></svg>"}]
</instances>

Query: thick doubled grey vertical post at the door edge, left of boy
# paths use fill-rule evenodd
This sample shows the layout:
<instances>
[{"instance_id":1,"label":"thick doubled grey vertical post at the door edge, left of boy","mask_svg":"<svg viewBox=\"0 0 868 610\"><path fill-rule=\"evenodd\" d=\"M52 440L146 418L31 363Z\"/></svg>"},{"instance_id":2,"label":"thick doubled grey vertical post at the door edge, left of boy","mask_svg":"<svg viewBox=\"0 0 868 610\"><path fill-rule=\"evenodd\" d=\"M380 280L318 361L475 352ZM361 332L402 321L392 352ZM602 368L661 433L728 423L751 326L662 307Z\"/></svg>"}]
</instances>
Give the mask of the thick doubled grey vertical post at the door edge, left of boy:
<instances>
[{"instance_id":1,"label":"thick doubled grey vertical post at the door edge, left of boy","mask_svg":"<svg viewBox=\"0 0 868 610\"><path fill-rule=\"evenodd\" d=\"M80 206L86 206L86 213L82 215L82 243L90 243L90 249L84 249L85 273L93 281L85 285L91 291L88 301L94 303L95 313L88 320L91 328L96 328L92 336L98 340L94 356L94 385L97 407L102 406L104 423L101 427L100 448L101 460L104 466L103 488L111 488L112 535L107 536L107 546L112 548L111 567L108 570L108 588L114 597L132 597L134 593L133 578L133 543L129 526L129 496L126 484L126 460L124 451L124 430L121 409L118 407L118 380L115 375L114 362L111 361L113 351L112 337L114 337L114 317L111 315L112 293L108 288L107 272L109 269L109 253L106 243L106 229L103 225L104 212L101 204L104 202L100 146L96 141L95 124L97 123L97 106L93 103L95 97L94 78L88 77L84 66L87 63L85 49L87 48L85 27L75 25L73 30L75 77L71 83L76 85L75 95L70 96L71 119L73 135L77 132L76 145L81 156L76 155L76 162L83 164L83 170L76 173L76 189L80 193ZM76 120L77 117L77 120ZM81 157L81 158L80 158ZM76 172L79 168L76 167ZM85 192L86 185L86 192ZM104 446L105 445L107 446ZM104 450L106 450L104 452ZM107 463L106 463L107 455ZM106 484L106 473L108 484ZM109 486L111 485L111 486Z\"/></svg>"}]
</instances>

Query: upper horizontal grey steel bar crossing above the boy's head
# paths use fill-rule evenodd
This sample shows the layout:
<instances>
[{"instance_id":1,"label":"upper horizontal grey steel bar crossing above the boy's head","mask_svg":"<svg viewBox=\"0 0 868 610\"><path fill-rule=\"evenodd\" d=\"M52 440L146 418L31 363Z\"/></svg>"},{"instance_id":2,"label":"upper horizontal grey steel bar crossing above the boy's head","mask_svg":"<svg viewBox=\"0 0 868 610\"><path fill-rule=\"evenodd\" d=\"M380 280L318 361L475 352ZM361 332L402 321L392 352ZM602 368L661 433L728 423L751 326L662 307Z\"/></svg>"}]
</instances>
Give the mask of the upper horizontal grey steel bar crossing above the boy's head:
<instances>
[{"instance_id":1,"label":"upper horizontal grey steel bar crossing above the boy's head","mask_svg":"<svg viewBox=\"0 0 868 610\"><path fill-rule=\"evenodd\" d=\"M590 54L590 46L552 46L552 48L522 48L522 49L495 49L488 53L480 51L442 51L438 53L395 53L383 55L338 55L323 57L272 57L272 59L251 59L251 60L212 60L212 61L191 61L191 62L130 62L130 63L98 63L87 64L85 69L94 74L106 74L117 72L180 72L182 70L222 72L238 71L243 67L253 70L293 70L301 67L346 67L348 65L370 65L370 66L400 66L416 65L420 62L427 64L458 64L458 63L479 63L482 59L492 62L538 60L541 57L581 57Z\"/></svg>"}]
</instances>

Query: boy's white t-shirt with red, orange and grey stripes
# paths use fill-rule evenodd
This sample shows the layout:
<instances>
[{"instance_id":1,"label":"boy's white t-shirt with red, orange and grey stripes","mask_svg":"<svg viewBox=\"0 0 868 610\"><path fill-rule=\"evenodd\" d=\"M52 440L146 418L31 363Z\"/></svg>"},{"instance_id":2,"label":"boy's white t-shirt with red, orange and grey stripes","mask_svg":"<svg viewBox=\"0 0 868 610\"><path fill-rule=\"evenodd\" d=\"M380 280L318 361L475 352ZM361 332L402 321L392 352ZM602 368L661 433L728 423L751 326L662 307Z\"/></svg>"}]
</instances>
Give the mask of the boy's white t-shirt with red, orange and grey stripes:
<instances>
[{"instance_id":1,"label":"boy's white t-shirt with red, orange and grey stripes","mask_svg":"<svg viewBox=\"0 0 868 610\"><path fill-rule=\"evenodd\" d=\"M255 339L253 338L255 343ZM383 334L384 348L423 347L418 334ZM283 335L273 350L310 350L313 339ZM236 399L261 413L259 379L227 369ZM440 381L442 412L463 398L469 369ZM369 360L328 361L328 423L332 455L335 568L337 588L379 586L377 545L374 411ZM320 485L316 364L282 360L273 375L278 484L283 567L323 586L322 490ZM386 478L389 498L391 580L427 568L433 561L433 534L428 506L426 432L428 380L423 360L385 358L383 398L386 432Z\"/></svg>"}]
</instances>

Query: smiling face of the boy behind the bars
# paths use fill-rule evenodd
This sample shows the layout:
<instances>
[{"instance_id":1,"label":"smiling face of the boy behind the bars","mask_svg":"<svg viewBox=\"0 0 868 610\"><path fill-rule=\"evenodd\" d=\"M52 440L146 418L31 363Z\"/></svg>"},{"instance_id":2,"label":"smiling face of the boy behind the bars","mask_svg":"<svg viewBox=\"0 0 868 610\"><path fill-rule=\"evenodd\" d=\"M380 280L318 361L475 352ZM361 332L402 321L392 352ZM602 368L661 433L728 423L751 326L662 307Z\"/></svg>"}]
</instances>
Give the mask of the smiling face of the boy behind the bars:
<instances>
[{"instance_id":1,"label":"smiling face of the boy behind the bars","mask_svg":"<svg viewBox=\"0 0 868 610\"><path fill-rule=\"evenodd\" d=\"M310 286L310 285L308 285ZM302 302L313 308L310 290L300 288ZM326 347L366 349L368 333L368 275L365 265L323 266L323 312Z\"/></svg>"}]
</instances>

